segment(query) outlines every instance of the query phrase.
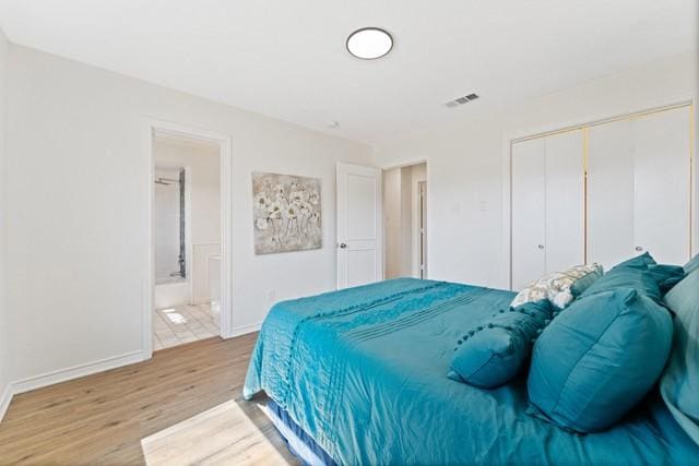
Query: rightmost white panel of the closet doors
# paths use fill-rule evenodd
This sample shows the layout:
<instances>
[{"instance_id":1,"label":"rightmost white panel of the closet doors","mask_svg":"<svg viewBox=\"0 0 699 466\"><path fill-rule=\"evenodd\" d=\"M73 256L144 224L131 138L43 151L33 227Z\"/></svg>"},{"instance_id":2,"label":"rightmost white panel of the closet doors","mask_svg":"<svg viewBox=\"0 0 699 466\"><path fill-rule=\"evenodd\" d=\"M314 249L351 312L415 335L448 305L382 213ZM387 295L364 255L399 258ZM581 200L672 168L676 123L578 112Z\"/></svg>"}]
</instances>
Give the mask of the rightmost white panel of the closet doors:
<instances>
[{"instance_id":1,"label":"rightmost white panel of the closet doors","mask_svg":"<svg viewBox=\"0 0 699 466\"><path fill-rule=\"evenodd\" d=\"M631 121L635 246L660 263L689 259L689 109Z\"/></svg>"}]
</instances>

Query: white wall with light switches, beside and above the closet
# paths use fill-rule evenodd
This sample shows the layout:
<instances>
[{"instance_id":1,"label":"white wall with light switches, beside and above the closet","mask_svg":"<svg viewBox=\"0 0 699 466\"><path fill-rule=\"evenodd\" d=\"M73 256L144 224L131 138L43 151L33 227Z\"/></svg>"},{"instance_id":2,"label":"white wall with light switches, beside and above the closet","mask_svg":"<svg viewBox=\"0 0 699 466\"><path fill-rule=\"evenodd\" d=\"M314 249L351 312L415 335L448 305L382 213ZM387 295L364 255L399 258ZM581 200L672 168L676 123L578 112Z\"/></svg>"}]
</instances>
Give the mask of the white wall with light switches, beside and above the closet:
<instances>
[{"instance_id":1,"label":"white wall with light switches, beside and above the closet","mask_svg":"<svg viewBox=\"0 0 699 466\"><path fill-rule=\"evenodd\" d=\"M427 160L430 278L505 288L509 205L503 195L503 156L510 139L686 99L696 101L696 96L695 51L512 103L479 118L469 118L475 107L445 108L454 112L453 123L378 144L375 162L391 167ZM487 98L482 96L483 101Z\"/></svg>"}]
</instances>

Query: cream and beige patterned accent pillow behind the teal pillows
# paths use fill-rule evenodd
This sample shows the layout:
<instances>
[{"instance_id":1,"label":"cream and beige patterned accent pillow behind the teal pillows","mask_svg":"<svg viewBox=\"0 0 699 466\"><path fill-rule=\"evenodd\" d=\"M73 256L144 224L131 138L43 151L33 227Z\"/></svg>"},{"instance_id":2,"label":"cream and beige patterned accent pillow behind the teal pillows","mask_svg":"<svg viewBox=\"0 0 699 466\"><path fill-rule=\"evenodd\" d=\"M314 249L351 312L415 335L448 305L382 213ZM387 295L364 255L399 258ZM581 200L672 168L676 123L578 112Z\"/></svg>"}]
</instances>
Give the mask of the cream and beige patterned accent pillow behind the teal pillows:
<instances>
[{"instance_id":1,"label":"cream and beige patterned accent pillow behind the teal pillows","mask_svg":"<svg viewBox=\"0 0 699 466\"><path fill-rule=\"evenodd\" d=\"M558 309L564 309L570 304L574 298L571 288L576 282L585 279L587 285L591 285L594 279L602 276L602 265L576 265L562 272L554 272L544 275L542 278L522 289L512 300L512 308L525 302L536 302L548 299ZM590 279L590 275L594 279ZM579 290L580 291L580 290Z\"/></svg>"}]
</instances>

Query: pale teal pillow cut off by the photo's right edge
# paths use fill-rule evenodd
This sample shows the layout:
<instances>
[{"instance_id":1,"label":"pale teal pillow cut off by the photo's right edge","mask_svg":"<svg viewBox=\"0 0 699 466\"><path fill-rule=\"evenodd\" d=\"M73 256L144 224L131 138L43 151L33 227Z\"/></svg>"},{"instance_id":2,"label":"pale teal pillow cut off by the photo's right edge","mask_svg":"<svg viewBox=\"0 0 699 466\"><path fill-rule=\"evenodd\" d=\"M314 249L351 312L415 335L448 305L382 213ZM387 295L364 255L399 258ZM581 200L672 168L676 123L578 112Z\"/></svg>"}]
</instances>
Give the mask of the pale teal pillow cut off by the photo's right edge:
<instances>
[{"instance_id":1,"label":"pale teal pillow cut off by the photo's right edge","mask_svg":"<svg viewBox=\"0 0 699 466\"><path fill-rule=\"evenodd\" d=\"M675 334L660 391L677 423L699 444L699 270L665 296Z\"/></svg>"}]
</instances>

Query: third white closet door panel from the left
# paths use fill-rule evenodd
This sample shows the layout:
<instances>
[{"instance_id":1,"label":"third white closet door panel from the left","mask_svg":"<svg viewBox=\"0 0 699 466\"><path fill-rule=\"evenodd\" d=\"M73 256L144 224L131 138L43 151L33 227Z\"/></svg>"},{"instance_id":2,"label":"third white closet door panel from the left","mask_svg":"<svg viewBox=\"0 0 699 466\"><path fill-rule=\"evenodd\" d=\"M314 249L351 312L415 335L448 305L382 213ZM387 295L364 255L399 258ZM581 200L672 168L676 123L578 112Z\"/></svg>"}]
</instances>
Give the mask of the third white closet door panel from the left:
<instances>
[{"instance_id":1,"label":"third white closet door panel from the left","mask_svg":"<svg viewBox=\"0 0 699 466\"><path fill-rule=\"evenodd\" d=\"M588 262L605 270L633 253L633 157L628 120L588 133Z\"/></svg>"}]
</instances>

